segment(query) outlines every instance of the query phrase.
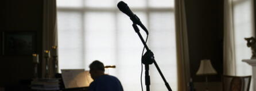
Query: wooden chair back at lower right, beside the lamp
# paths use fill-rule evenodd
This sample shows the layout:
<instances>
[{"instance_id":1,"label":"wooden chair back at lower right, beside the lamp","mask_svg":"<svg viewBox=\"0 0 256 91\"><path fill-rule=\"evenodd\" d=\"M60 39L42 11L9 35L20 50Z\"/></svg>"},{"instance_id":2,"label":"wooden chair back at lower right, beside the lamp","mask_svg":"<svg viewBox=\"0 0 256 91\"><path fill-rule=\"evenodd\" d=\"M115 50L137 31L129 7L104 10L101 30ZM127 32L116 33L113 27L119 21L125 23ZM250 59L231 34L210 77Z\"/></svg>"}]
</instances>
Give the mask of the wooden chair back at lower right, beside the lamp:
<instances>
[{"instance_id":1,"label":"wooden chair back at lower right, beside the lamp","mask_svg":"<svg viewBox=\"0 0 256 91\"><path fill-rule=\"evenodd\" d=\"M251 76L222 76L223 91L249 91Z\"/></svg>"}]
</instances>

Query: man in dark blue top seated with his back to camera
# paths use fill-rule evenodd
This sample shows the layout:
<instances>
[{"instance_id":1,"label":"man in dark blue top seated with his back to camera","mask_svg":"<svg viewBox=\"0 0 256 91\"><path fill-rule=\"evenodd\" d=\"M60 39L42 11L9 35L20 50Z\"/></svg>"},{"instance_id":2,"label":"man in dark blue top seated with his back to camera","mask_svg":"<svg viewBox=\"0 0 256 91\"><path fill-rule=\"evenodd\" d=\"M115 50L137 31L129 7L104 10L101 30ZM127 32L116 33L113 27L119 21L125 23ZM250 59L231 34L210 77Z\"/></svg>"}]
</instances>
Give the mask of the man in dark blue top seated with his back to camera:
<instances>
[{"instance_id":1,"label":"man in dark blue top seated with his back to camera","mask_svg":"<svg viewBox=\"0 0 256 91\"><path fill-rule=\"evenodd\" d=\"M117 77L105 75L104 64L98 60L90 64L90 74L94 81L89 86L89 91L123 91L123 86Z\"/></svg>"}]
</instances>

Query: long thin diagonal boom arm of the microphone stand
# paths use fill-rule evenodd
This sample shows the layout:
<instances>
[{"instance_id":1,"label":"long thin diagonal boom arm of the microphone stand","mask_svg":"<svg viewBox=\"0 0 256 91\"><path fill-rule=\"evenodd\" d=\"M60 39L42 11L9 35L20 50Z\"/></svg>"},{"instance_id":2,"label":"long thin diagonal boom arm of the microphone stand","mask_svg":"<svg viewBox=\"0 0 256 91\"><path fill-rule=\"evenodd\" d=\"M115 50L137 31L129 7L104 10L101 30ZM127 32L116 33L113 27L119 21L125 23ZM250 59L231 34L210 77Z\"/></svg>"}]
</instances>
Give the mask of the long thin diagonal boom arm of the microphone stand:
<instances>
[{"instance_id":1,"label":"long thin diagonal boom arm of the microphone stand","mask_svg":"<svg viewBox=\"0 0 256 91\"><path fill-rule=\"evenodd\" d=\"M138 36L139 36L139 39L141 39L141 42L143 43L143 45L144 45L144 47L146 48L147 52L151 52L150 49L149 49L149 47L148 47L147 44L145 43L145 40L142 38L141 33L139 32L139 28L137 27L137 24L133 23L133 28L134 28L135 32L137 32L137 34L138 34ZM153 52L152 52L152 56L153 56ZM152 57L152 59L154 60L154 57ZM153 61L153 63L154 63L154 65L156 66L157 71L160 73L160 75L161 75L161 77L162 77L162 80L164 80L166 88L167 88L169 91L172 91L172 89L170 88L170 85L169 85L168 82L165 80L164 75L162 75L162 72L161 72L160 68L158 67L157 62L156 62L156 61ZM145 65L146 65L146 64L145 64ZM147 90L148 90L148 89L149 89L149 88L147 87Z\"/></svg>"}]
</instances>

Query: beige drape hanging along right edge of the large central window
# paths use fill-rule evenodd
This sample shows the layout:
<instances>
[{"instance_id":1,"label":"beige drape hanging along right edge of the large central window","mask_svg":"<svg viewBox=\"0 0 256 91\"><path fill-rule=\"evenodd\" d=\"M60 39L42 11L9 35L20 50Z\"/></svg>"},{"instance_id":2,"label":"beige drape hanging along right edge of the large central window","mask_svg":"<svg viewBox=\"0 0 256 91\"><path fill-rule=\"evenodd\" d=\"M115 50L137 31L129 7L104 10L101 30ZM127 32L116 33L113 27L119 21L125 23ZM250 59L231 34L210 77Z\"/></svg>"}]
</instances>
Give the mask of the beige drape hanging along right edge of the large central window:
<instances>
[{"instance_id":1,"label":"beige drape hanging along right edge of the large central window","mask_svg":"<svg viewBox=\"0 0 256 91\"><path fill-rule=\"evenodd\" d=\"M176 45L177 45L177 75L178 90L188 90L189 82L189 50L187 35L187 20L185 14L184 0L175 1L175 24L176 24Z\"/></svg>"}]
</instances>

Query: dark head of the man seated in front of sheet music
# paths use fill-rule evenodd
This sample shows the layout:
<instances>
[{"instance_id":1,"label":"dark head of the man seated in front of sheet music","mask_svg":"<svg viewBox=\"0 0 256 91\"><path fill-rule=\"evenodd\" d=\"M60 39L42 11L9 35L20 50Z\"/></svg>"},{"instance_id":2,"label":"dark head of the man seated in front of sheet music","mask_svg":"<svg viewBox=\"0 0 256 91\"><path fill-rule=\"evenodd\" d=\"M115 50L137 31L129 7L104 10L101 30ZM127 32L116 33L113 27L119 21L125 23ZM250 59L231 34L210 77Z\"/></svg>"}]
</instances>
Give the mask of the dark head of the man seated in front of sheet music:
<instances>
[{"instance_id":1,"label":"dark head of the man seated in front of sheet music","mask_svg":"<svg viewBox=\"0 0 256 91\"><path fill-rule=\"evenodd\" d=\"M102 62L95 60L90 64L89 67L92 79L95 80L95 78L104 75L105 68Z\"/></svg>"}]
</instances>

